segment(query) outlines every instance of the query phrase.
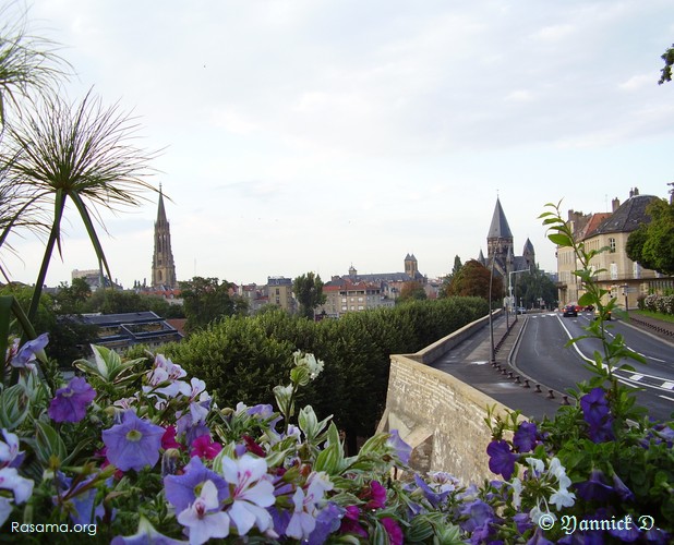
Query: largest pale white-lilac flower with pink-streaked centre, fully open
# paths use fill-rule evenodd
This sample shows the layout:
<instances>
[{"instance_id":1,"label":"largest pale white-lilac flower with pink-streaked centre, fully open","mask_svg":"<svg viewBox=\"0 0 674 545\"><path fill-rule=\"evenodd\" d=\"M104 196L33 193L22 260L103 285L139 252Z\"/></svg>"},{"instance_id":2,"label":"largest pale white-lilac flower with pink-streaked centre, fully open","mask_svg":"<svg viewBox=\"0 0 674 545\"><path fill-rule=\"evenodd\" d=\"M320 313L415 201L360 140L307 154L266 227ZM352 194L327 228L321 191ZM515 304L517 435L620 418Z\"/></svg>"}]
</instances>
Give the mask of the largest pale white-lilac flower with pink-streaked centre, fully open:
<instances>
[{"instance_id":1,"label":"largest pale white-lilac flower with pink-streaked centre, fully open","mask_svg":"<svg viewBox=\"0 0 674 545\"><path fill-rule=\"evenodd\" d=\"M272 516L265 508L273 506L276 497L274 485L266 480L267 462L264 458L243 455L232 460L224 457L222 474L229 484L234 485L233 502L228 513L239 535L245 535L253 525L261 532L272 528Z\"/></svg>"}]
</instances>

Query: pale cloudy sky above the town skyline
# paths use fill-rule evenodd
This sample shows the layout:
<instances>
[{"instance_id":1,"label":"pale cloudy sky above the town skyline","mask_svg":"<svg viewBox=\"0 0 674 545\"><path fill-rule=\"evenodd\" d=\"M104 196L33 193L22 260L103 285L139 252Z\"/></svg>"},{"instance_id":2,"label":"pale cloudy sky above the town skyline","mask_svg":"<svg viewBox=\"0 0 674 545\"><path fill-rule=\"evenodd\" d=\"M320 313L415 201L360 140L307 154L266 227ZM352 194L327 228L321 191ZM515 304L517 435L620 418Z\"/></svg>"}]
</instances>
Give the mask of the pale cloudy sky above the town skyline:
<instances>
[{"instance_id":1,"label":"pale cloudy sky above the town skyline","mask_svg":"<svg viewBox=\"0 0 674 545\"><path fill-rule=\"evenodd\" d=\"M33 0L28 28L61 45L87 90L159 152L179 280L429 278L486 253L496 199L556 270L546 203L607 211L674 181L671 0ZM157 197L103 213L113 278L149 281ZM170 201L169 201L170 199ZM48 286L96 267L70 208ZM43 242L15 240L34 283Z\"/></svg>"}]
</instances>

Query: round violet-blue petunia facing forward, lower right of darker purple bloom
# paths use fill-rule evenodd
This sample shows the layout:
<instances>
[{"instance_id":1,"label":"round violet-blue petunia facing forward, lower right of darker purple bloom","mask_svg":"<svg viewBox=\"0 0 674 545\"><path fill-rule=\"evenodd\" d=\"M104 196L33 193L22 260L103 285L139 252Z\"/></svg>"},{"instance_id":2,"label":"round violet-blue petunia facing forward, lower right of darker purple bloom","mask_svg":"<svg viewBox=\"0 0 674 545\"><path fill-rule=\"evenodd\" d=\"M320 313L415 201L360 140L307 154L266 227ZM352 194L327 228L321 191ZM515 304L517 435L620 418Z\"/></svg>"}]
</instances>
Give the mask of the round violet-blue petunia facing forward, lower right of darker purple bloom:
<instances>
[{"instance_id":1,"label":"round violet-blue petunia facing forward, lower right of darker purple bloom","mask_svg":"<svg viewBox=\"0 0 674 545\"><path fill-rule=\"evenodd\" d=\"M103 432L108 460L122 471L140 471L147 465L153 468L159 460L164 433L161 426L127 411L121 424Z\"/></svg>"}]
</instances>

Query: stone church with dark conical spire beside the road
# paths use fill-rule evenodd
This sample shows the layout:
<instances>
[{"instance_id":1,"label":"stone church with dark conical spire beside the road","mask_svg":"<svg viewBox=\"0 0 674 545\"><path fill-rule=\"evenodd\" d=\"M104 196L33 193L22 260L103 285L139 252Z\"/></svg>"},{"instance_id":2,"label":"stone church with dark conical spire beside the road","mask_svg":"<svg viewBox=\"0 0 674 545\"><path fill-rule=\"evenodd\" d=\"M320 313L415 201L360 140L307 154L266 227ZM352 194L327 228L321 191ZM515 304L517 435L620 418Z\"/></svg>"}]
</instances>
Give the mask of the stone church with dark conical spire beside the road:
<instances>
[{"instance_id":1,"label":"stone church with dark conical spire beside the road","mask_svg":"<svg viewBox=\"0 0 674 545\"><path fill-rule=\"evenodd\" d=\"M496 197L496 206L492 216L492 223L486 234L486 258L480 250L478 261L503 279L504 293L508 292L508 275L516 270L533 270L535 267L535 252L533 244L527 239L521 255L515 255L514 237L505 217L501 201Z\"/></svg>"}]
</instances>

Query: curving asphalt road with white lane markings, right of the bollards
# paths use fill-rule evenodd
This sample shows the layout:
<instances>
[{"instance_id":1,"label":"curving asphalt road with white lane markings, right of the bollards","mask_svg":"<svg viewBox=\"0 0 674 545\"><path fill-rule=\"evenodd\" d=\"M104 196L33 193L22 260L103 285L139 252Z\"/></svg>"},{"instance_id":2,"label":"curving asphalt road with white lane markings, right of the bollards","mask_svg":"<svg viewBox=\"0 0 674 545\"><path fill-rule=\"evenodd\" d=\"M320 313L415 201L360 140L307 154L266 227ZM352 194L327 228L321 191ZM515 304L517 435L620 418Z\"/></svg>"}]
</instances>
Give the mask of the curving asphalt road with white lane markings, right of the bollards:
<instances>
[{"instance_id":1,"label":"curving asphalt road with white lane markings, right of the bollards","mask_svg":"<svg viewBox=\"0 0 674 545\"><path fill-rule=\"evenodd\" d=\"M527 316L511 363L521 373L558 391L587 380L592 373L586 367L595 351L602 351L597 339L583 339L565 347L569 339L587 335L583 326L591 313L564 318L559 313ZM641 354L647 363L629 360L634 372L618 371L623 384L640 388L639 403L658 420L671 420L674 412L674 344L645 332L622 320L606 324L610 338L622 335L627 347Z\"/></svg>"}]
</instances>

